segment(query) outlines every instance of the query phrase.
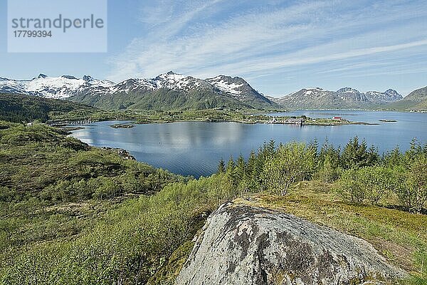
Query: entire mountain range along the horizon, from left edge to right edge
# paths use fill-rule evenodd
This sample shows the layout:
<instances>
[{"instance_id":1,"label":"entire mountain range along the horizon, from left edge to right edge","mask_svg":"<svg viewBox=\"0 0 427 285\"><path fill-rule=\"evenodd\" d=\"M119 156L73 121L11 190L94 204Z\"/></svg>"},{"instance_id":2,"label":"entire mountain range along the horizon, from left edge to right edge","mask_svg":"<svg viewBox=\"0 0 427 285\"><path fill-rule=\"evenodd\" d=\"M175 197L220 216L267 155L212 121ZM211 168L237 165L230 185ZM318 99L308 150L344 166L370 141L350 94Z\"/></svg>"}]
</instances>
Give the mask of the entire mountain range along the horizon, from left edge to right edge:
<instances>
[{"instance_id":1,"label":"entire mountain range along the horizon, from left edge to right edge","mask_svg":"<svg viewBox=\"0 0 427 285\"><path fill-rule=\"evenodd\" d=\"M418 110L418 107L425 109L427 105L423 105L423 98L418 98L426 93L422 89L403 98L393 89L362 93L350 87L336 91L302 88L281 98L273 98L258 92L240 77L220 75L200 79L172 71L155 78L130 78L120 83L98 80L91 76L49 77L44 74L31 80L0 78L0 93L67 99L106 110L401 109L411 106Z\"/></svg>"}]
</instances>

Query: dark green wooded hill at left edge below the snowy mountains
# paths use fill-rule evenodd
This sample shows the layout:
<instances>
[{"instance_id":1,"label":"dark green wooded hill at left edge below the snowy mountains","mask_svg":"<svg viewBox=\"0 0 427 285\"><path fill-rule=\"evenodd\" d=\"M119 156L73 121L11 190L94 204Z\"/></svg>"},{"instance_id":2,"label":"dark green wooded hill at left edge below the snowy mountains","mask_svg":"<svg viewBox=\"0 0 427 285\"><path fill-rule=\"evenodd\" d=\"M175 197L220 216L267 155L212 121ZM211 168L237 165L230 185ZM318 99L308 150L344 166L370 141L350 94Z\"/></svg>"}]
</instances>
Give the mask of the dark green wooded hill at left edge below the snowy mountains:
<instances>
[{"instance_id":1,"label":"dark green wooded hill at left edge below the snowy mountains","mask_svg":"<svg viewBox=\"0 0 427 285\"><path fill-rule=\"evenodd\" d=\"M88 105L68 100L56 100L30 95L0 94L0 120L19 123L21 121L46 121L53 116L74 113L90 115L96 111Z\"/></svg>"}]
</instances>

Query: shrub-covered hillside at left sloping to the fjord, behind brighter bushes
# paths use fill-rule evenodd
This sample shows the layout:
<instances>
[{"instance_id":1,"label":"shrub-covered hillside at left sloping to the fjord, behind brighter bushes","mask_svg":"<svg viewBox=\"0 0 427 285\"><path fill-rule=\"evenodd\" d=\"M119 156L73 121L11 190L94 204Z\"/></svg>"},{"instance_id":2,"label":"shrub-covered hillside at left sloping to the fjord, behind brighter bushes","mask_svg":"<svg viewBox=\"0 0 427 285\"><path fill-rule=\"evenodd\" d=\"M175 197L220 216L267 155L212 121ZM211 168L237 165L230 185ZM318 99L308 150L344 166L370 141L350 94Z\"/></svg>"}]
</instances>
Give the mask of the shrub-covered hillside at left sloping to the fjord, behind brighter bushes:
<instances>
[{"instance_id":1,"label":"shrub-covered hillside at left sloping to the fjord, behind brighter bushes","mask_svg":"<svg viewBox=\"0 0 427 285\"><path fill-rule=\"evenodd\" d=\"M0 249L73 237L125 199L179 180L58 129L0 122Z\"/></svg>"}]
</instances>

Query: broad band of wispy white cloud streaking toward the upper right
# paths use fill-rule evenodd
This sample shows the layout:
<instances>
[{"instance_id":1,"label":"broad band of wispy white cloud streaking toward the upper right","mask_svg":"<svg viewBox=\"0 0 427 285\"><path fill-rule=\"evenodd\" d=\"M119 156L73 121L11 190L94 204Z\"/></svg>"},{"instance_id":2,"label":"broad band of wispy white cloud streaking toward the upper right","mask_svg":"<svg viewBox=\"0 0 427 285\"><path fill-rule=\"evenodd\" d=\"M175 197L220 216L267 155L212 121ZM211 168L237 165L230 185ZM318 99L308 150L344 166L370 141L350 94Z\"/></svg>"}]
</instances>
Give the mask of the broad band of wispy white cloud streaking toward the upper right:
<instances>
[{"instance_id":1,"label":"broad band of wispy white cloud streaking toward the upper right","mask_svg":"<svg viewBox=\"0 0 427 285\"><path fill-rule=\"evenodd\" d=\"M415 19L427 11L417 3L357 6L350 1L308 1L242 9L232 18L219 15L223 19L217 23L204 19L217 15L221 0L190 1L179 10L174 6L174 11L168 3L162 1L144 12L157 19L162 9L168 11L161 21L144 17L153 21L153 28L112 59L110 79L150 77L169 70L200 77L226 73L256 78L289 67L352 58L357 65L356 59L365 56L419 52L427 45L427 25L420 29Z\"/></svg>"}]
</instances>

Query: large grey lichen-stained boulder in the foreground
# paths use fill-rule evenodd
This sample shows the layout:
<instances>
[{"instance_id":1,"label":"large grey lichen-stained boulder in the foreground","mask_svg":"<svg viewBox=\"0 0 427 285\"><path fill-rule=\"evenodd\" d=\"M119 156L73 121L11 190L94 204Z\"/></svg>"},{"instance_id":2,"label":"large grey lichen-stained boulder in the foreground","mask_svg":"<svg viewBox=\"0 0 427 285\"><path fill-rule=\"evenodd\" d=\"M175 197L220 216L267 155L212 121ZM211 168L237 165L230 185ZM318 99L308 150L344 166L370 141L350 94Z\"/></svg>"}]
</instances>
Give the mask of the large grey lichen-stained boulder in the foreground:
<instances>
[{"instance_id":1,"label":"large grey lichen-stained boulder in the foreground","mask_svg":"<svg viewBox=\"0 0 427 285\"><path fill-rule=\"evenodd\" d=\"M404 276L362 239L229 202L207 220L176 285L384 284Z\"/></svg>"}]
</instances>

